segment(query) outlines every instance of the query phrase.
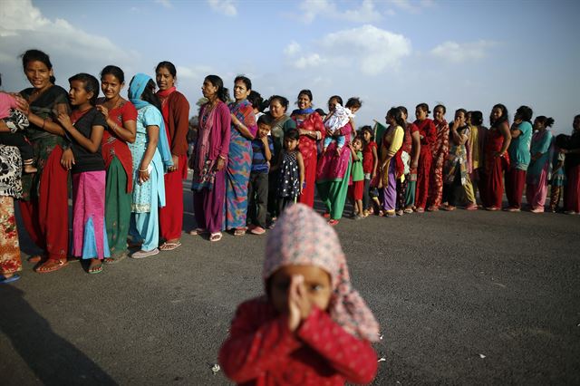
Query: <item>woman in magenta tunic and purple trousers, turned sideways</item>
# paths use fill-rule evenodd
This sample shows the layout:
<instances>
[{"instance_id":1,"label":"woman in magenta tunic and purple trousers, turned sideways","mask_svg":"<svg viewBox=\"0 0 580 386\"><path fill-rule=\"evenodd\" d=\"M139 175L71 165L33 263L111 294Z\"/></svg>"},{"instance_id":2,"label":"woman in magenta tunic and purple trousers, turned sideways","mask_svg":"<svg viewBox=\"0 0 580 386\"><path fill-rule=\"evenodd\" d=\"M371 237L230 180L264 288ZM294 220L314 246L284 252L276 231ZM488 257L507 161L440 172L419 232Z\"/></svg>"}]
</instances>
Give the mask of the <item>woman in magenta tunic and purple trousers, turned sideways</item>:
<instances>
[{"instance_id":1,"label":"woman in magenta tunic and purple trousers, turned sideways","mask_svg":"<svg viewBox=\"0 0 580 386\"><path fill-rule=\"evenodd\" d=\"M209 232L210 241L219 241L224 218L231 115L226 104L227 88L218 75L208 75L201 92L208 102L199 109L198 142L189 159L189 168L193 169L191 190L198 227L189 234Z\"/></svg>"}]
</instances>

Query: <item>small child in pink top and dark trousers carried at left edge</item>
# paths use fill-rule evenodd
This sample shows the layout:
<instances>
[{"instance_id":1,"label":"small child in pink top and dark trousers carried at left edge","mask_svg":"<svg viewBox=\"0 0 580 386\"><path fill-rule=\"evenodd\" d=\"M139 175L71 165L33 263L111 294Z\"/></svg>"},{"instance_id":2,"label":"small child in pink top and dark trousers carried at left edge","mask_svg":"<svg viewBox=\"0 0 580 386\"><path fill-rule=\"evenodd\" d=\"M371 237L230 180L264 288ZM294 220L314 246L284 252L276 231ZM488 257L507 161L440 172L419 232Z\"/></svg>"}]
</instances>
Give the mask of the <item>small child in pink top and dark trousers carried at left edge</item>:
<instances>
[{"instance_id":1,"label":"small child in pink top and dark trousers carried at left edge","mask_svg":"<svg viewBox=\"0 0 580 386\"><path fill-rule=\"evenodd\" d=\"M0 86L2 78L0 77ZM24 173L36 173L34 168L33 146L26 140L23 130L30 124L26 116L16 110L18 103L13 95L7 92L0 92L0 120L5 121L10 132L0 132L0 144L15 146L20 151L20 158L23 161Z\"/></svg>"}]
</instances>

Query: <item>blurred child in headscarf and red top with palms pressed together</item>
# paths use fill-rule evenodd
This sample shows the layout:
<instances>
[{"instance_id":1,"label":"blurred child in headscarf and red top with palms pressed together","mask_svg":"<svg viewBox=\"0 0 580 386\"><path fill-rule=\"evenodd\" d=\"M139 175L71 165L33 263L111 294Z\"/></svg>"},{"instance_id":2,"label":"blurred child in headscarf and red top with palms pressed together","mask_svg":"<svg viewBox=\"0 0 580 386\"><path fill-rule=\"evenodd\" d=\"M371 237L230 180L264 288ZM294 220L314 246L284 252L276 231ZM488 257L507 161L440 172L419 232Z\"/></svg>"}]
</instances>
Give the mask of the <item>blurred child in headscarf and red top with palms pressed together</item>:
<instances>
[{"instance_id":1,"label":"blurred child in headscarf and red top with palms pressed together","mask_svg":"<svg viewBox=\"0 0 580 386\"><path fill-rule=\"evenodd\" d=\"M379 325L323 217L302 204L286 208L266 242L263 279L266 295L237 307L219 351L227 377L260 385L372 381Z\"/></svg>"}]
</instances>

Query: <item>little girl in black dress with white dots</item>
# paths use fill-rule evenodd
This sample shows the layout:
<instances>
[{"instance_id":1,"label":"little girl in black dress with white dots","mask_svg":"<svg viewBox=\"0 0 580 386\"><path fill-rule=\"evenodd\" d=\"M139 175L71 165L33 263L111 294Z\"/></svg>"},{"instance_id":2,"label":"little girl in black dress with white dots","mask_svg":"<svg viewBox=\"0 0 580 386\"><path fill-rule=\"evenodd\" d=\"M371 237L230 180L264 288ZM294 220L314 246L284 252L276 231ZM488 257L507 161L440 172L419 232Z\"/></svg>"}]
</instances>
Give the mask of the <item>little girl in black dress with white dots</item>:
<instances>
[{"instance_id":1,"label":"little girl in black dress with white dots","mask_svg":"<svg viewBox=\"0 0 580 386\"><path fill-rule=\"evenodd\" d=\"M279 170L276 189L278 213L282 213L285 207L295 204L304 188L304 159L298 150L299 138L298 130L292 129L285 132L284 150L278 158L278 165L273 167L273 170Z\"/></svg>"}]
</instances>

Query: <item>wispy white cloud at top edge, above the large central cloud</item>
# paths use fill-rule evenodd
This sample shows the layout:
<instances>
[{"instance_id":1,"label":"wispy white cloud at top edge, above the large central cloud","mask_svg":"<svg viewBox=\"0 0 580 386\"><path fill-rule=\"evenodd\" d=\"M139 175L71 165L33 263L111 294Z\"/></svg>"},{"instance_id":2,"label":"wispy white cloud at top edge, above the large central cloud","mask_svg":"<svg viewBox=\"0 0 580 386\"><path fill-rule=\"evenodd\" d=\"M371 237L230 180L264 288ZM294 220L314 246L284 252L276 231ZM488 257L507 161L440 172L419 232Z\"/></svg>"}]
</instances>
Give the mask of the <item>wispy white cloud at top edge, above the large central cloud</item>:
<instances>
[{"instance_id":1,"label":"wispy white cloud at top edge, above the large central cloud","mask_svg":"<svg viewBox=\"0 0 580 386\"><path fill-rule=\"evenodd\" d=\"M362 4L353 9L342 9L343 5L337 5L333 0L304 0L299 5L300 20L310 24L317 16L353 23L372 23L382 19L381 13L374 6L374 0L362 0Z\"/></svg>"}]
</instances>

